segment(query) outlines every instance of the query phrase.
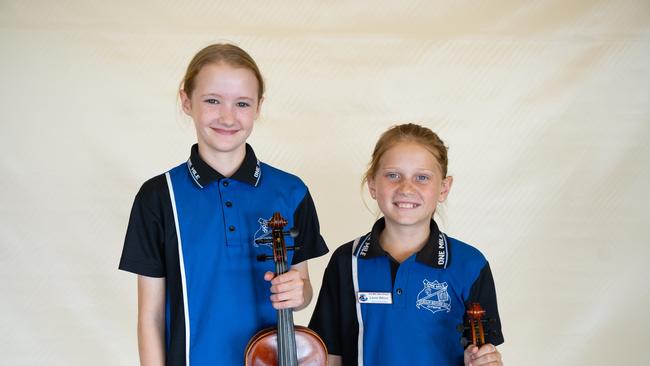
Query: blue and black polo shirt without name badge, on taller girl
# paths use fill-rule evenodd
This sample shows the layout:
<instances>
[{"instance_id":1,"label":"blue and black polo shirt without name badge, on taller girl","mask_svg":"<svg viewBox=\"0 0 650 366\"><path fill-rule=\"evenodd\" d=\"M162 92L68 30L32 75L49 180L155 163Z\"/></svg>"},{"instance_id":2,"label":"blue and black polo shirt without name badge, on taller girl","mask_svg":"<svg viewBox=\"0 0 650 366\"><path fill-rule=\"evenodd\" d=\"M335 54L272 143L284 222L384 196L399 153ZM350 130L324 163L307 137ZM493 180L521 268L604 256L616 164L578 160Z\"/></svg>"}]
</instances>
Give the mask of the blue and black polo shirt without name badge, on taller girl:
<instances>
[{"instance_id":1,"label":"blue and black polo shirt without name badge, on taller girl","mask_svg":"<svg viewBox=\"0 0 650 366\"><path fill-rule=\"evenodd\" d=\"M266 271L273 261L274 212L298 236L301 250L287 262L327 253L314 202L296 176L261 163L246 145L241 167L224 177L205 163L198 146L187 162L145 182L136 195L119 268L166 280L167 365L238 365L248 340L274 326Z\"/></svg>"}]
</instances>

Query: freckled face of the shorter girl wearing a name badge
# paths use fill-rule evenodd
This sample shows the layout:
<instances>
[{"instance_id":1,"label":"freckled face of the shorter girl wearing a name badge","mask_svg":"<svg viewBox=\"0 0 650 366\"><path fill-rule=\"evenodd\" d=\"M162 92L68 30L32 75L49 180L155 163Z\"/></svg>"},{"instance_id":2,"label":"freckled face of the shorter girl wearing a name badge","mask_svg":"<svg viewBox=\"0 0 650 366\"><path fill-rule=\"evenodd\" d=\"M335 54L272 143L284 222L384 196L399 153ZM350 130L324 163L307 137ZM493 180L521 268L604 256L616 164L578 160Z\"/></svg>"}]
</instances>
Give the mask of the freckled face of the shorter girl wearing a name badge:
<instances>
[{"instance_id":1,"label":"freckled face of the shorter girl wearing a name badge","mask_svg":"<svg viewBox=\"0 0 650 366\"><path fill-rule=\"evenodd\" d=\"M379 160L368 189L384 214L386 225L426 226L451 188L435 156L416 142L400 142Z\"/></svg>"}]
</instances>

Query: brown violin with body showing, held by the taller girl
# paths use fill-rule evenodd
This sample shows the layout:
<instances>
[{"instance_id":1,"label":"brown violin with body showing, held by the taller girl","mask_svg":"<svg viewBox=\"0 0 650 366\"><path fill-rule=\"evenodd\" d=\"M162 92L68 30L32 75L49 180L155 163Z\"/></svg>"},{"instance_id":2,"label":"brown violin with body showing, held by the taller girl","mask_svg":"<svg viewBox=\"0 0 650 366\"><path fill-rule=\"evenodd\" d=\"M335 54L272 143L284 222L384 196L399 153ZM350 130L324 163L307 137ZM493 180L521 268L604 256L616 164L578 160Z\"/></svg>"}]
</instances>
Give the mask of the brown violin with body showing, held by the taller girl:
<instances>
[{"instance_id":1,"label":"brown violin with body showing, held by the taller girl","mask_svg":"<svg viewBox=\"0 0 650 366\"><path fill-rule=\"evenodd\" d=\"M295 236L294 232L283 231L287 220L279 212L273 214L268 222L272 228L271 238L257 239L257 243L272 243L273 255L260 255L258 260L273 259L275 274L286 273L287 248L285 235ZM313 330L293 324L293 309L278 310L276 328L263 329L255 334L246 346L246 366L325 366L327 365L327 347Z\"/></svg>"}]
</instances>

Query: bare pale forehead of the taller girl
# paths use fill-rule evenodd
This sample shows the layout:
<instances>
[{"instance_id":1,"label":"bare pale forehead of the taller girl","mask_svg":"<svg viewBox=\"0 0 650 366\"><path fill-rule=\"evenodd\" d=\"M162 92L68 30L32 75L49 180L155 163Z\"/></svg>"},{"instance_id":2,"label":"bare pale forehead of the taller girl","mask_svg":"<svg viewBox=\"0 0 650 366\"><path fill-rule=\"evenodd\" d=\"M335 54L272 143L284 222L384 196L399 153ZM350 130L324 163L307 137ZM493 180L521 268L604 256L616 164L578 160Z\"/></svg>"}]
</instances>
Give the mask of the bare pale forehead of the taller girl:
<instances>
[{"instance_id":1,"label":"bare pale forehead of the taller girl","mask_svg":"<svg viewBox=\"0 0 650 366\"><path fill-rule=\"evenodd\" d=\"M201 68L195 79L195 92L257 97L257 78L253 71L226 63L210 63Z\"/></svg>"}]
</instances>

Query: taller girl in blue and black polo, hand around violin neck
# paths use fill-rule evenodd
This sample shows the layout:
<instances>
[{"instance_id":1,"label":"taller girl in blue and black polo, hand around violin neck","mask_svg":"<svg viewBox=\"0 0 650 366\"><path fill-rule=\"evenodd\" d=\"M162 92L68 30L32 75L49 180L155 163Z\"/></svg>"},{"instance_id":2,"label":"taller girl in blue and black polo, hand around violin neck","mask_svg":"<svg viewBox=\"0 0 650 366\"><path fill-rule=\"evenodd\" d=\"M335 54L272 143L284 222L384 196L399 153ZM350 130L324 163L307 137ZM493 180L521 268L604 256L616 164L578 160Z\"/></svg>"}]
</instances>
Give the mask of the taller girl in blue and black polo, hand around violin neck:
<instances>
[{"instance_id":1,"label":"taller girl in blue and black polo, hand around violin neck","mask_svg":"<svg viewBox=\"0 0 650 366\"><path fill-rule=\"evenodd\" d=\"M276 322L275 309L309 304L307 260L327 247L305 184L246 144L264 100L255 61L231 44L204 48L180 99L198 143L186 162L140 188L120 261L138 274L140 362L241 364L249 338ZM256 260L271 249L254 243L276 211L298 229L302 248L274 277L272 262Z\"/></svg>"}]
</instances>

